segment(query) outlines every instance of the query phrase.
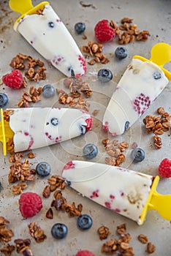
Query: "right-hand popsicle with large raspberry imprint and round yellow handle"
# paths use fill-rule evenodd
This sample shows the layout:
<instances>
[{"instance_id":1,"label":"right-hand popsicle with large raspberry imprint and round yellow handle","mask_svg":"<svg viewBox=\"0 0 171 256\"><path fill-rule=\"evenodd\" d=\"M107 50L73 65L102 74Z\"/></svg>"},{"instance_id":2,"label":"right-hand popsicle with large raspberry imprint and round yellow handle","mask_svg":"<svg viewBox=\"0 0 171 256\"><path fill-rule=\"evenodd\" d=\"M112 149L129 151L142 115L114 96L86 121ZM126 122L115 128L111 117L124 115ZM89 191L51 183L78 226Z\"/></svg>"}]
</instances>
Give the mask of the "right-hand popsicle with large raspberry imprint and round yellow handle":
<instances>
[{"instance_id":1,"label":"right-hand popsicle with large raspberry imprint and round yellow handle","mask_svg":"<svg viewBox=\"0 0 171 256\"><path fill-rule=\"evenodd\" d=\"M171 80L170 72L162 67L168 61L171 46L165 43L153 46L150 61L134 56L104 113L104 130L113 136L121 135L145 113Z\"/></svg>"}]
</instances>

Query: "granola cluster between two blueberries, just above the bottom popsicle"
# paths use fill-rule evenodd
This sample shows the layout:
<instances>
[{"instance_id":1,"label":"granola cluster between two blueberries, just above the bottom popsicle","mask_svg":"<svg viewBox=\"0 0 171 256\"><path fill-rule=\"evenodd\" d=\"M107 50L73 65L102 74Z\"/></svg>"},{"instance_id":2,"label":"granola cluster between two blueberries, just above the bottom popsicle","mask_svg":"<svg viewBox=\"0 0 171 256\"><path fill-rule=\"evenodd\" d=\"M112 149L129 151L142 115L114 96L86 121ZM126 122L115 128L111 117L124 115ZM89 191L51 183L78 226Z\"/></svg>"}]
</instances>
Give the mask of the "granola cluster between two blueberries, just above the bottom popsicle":
<instances>
[{"instance_id":1,"label":"granola cluster between two blueberries, just above the bottom popsicle","mask_svg":"<svg viewBox=\"0 0 171 256\"><path fill-rule=\"evenodd\" d=\"M126 151L129 144L126 141L121 143L119 143L118 140L110 141L108 138L102 140L102 143L104 144L107 154L110 156L105 158L105 163L113 166L121 165L121 163L126 159L123 151Z\"/></svg>"}]
</instances>

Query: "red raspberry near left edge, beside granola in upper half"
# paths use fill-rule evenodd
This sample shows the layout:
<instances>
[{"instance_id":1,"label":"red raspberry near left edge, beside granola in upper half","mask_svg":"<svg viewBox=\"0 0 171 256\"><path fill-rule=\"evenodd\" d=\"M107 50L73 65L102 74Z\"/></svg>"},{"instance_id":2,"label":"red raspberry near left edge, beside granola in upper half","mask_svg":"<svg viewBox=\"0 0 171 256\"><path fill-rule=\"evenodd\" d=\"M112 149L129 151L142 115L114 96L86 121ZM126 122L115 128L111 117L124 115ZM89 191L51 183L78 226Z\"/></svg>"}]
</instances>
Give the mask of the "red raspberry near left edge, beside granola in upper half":
<instances>
[{"instance_id":1,"label":"red raspberry near left edge, beside granola in upper half","mask_svg":"<svg viewBox=\"0 0 171 256\"><path fill-rule=\"evenodd\" d=\"M19 89L23 85L23 75L18 69L14 69L11 73L3 75L2 80L6 86L12 89Z\"/></svg>"}]
</instances>

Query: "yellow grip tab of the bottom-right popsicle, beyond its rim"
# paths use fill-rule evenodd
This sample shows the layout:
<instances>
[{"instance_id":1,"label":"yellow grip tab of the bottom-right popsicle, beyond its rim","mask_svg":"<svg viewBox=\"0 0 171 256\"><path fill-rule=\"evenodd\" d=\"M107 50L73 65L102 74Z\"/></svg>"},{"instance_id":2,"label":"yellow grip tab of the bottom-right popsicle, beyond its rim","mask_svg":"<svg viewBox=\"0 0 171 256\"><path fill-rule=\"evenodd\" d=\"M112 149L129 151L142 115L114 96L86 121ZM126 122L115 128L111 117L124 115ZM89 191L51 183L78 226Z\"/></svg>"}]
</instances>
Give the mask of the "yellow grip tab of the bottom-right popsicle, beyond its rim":
<instances>
[{"instance_id":1,"label":"yellow grip tab of the bottom-right popsicle, beyond its rim","mask_svg":"<svg viewBox=\"0 0 171 256\"><path fill-rule=\"evenodd\" d=\"M154 191L151 203L148 204L148 210L156 210L161 217L171 221L171 195L160 195Z\"/></svg>"}]
</instances>

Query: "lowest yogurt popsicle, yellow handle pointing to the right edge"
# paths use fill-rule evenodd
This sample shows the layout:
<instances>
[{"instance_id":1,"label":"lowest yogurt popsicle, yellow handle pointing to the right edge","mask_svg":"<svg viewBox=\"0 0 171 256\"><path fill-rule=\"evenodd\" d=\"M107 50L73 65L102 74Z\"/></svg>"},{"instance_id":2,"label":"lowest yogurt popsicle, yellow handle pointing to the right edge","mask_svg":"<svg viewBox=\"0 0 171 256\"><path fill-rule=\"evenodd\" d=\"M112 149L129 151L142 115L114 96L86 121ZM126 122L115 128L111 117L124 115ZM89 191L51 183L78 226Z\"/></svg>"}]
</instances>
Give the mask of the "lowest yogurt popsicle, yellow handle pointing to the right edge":
<instances>
[{"instance_id":1,"label":"lowest yogurt popsicle, yellow handle pointing to the right edge","mask_svg":"<svg viewBox=\"0 0 171 256\"><path fill-rule=\"evenodd\" d=\"M171 195L159 195L159 176L96 162L68 162L62 176L70 187L94 202L142 225L146 212L155 208L171 219ZM166 202L167 201L167 202Z\"/></svg>"}]
</instances>

